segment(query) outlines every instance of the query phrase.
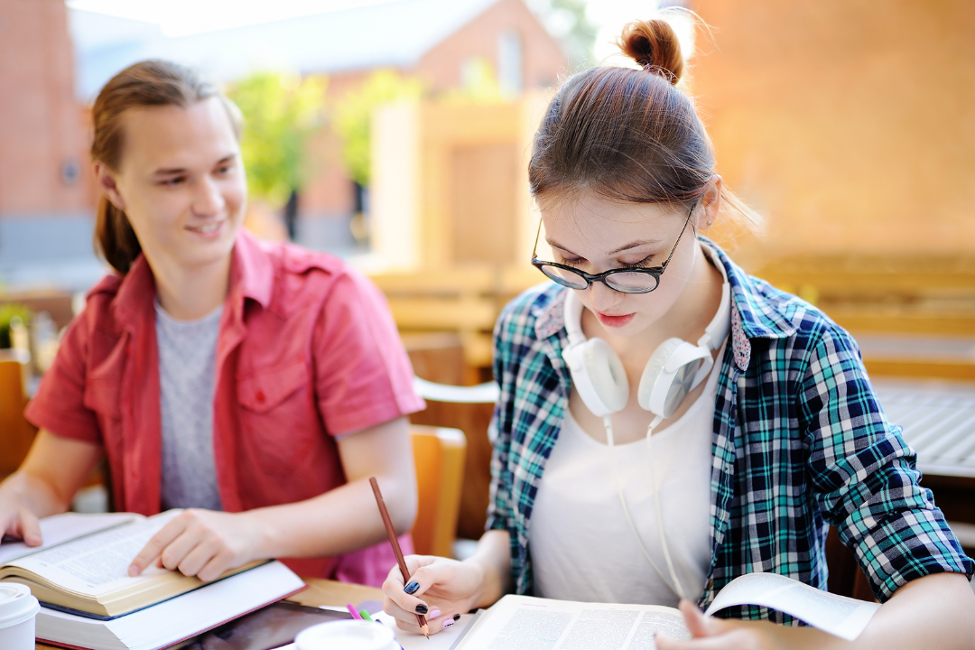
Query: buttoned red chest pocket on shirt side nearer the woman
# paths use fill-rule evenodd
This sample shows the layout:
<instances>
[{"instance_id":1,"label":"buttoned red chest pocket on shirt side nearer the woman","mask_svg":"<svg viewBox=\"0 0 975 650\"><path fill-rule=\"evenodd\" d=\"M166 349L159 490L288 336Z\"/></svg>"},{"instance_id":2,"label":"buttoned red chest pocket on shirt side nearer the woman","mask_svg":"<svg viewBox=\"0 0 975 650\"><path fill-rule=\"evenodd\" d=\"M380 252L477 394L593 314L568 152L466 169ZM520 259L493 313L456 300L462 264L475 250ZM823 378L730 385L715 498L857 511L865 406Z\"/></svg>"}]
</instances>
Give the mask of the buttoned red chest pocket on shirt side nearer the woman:
<instances>
[{"instance_id":1,"label":"buttoned red chest pocket on shirt side nearer the woman","mask_svg":"<svg viewBox=\"0 0 975 650\"><path fill-rule=\"evenodd\" d=\"M258 467L290 474L325 432L303 361L258 368L239 377L241 444Z\"/></svg>"}]
</instances>

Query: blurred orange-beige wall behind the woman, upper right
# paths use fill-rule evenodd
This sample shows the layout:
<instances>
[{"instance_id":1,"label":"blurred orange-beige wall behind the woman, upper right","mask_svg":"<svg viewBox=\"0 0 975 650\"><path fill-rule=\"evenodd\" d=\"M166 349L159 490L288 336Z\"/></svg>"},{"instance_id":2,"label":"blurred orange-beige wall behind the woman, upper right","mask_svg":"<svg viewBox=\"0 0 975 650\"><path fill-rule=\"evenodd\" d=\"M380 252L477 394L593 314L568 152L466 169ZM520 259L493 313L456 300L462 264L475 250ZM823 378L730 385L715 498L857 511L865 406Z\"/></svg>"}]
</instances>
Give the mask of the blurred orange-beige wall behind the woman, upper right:
<instances>
[{"instance_id":1,"label":"blurred orange-beige wall behind the woman, upper right","mask_svg":"<svg viewBox=\"0 0 975 650\"><path fill-rule=\"evenodd\" d=\"M752 264L793 251L975 251L975 3L699 0L691 85ZM701 56L701 55L704 56Z\"/></svg>"}]
</instances>

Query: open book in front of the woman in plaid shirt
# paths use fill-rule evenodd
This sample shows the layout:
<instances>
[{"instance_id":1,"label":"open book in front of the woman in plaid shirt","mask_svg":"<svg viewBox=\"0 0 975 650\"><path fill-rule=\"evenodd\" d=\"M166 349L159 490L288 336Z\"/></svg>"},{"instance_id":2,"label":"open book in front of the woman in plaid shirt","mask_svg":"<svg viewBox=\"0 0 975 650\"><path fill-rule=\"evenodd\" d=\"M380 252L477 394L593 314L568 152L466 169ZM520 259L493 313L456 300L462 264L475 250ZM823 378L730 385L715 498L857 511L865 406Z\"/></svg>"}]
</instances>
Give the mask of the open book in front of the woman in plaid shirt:
<instances>
[{"instance_id":1,"label":"open book in front of the woman in plaid shirt","mask_svg":"<svg viewBox=\"0 0 975 650\"><path fill-rule=\"evenodd\" d=\"M875 602L822 592L775 573L750 573L732 580L705 613L711 615L732 605L771 607L846 640L856 638L879 608ZM655 632L690 638L681 612L673 607L506 595L481 612L450 648L651 650L656 647ZM410 647L402 635L397 638L405 648Z\"/></svg>"}]
</instances>

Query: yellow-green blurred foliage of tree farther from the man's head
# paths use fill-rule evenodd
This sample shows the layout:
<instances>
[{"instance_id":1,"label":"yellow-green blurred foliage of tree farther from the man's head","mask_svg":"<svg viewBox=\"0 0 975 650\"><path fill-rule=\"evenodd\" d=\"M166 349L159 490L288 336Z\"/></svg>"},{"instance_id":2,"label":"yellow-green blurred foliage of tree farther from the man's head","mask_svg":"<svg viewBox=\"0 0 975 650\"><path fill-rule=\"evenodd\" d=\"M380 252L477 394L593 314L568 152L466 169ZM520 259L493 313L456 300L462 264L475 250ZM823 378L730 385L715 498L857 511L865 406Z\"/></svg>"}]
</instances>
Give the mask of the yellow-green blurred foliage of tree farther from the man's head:
<instances>
[{"instance_id":1,"label":"yellow-green blurred foliage of tree farther from the man's head","mask_svg":"<svg viewBox=\"0 0 975 650\"><path fill-rule=\"evenodd\" d=\"M370 180L370 121L383 104L416 101L423 86L395 70L376 70L358 90L342 97L332 113L332 126L342 140L342 162L352 180L366 187Z\"/></svg>"}]
</instances>

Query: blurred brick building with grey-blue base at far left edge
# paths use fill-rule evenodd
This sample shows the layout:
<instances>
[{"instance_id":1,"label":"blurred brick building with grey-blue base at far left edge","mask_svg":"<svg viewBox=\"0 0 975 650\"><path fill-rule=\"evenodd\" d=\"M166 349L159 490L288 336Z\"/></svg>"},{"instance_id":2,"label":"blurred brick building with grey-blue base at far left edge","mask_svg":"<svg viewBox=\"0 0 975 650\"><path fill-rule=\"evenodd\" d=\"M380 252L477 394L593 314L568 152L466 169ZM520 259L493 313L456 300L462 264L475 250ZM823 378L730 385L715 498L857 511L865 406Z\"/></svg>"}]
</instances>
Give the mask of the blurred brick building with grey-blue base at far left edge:
<instances>
[{"instance_id":1,"label":"blurred brick building with grey-blue base at far left edge","mask_svg":"<svg viewBox=\"0 0 975 650\"><path fill-rule=\"evenodd\" d=\"M63 0L0 0L0 97L0 283L88 286L94 193Z\"/></svg>"}]
</instances>

